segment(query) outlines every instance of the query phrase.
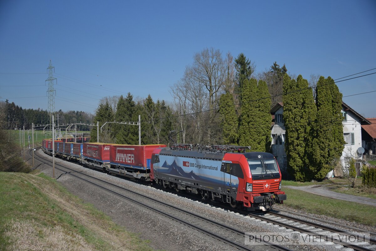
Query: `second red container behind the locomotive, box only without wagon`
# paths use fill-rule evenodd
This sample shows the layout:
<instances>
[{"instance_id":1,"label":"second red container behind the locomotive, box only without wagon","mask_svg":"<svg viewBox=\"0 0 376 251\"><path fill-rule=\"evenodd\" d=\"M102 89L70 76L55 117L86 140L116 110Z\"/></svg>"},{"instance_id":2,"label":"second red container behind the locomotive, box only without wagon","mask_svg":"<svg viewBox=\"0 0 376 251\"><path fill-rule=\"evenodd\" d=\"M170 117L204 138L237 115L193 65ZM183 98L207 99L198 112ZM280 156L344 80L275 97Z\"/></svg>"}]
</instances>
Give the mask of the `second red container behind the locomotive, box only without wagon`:
<instances>
[{"instance_id":1,"label":"second red container behind the locomotive, box only without wagon","mask_svg":"<svg viewBox=\"0 0 376 251\"><path fill-rule=\"evenodd\" d=\"M105 143L83 143L83 157L100 163L110 162L110 146Z\"/></svg>"}]
</instances>

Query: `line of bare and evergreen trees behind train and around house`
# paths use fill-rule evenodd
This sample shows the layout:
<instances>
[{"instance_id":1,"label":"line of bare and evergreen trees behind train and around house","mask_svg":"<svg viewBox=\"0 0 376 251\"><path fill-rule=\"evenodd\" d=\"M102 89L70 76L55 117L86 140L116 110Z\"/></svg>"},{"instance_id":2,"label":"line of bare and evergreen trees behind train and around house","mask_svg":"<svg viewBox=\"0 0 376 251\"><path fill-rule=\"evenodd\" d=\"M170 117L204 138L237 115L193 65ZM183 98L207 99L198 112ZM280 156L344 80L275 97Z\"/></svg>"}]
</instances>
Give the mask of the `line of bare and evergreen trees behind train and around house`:
<instances>
[{"instance_id":1,"label":"line of bare and evergreen trees behind train and around house","mask_svg":"<svg viewBox=\"0 0 376 251\"><path fill-rule=\"evenodd\" d=\"M153 101L150 95L134 100L130 93L106 97L93 122L136 122L141 115L141 144L233 144L270 152L270 110L283 102L288 171L299 181L321 179L343 150L342 94L330 77L310 78L289 76L286 65L277 62L255 74L255 63L243 53L234 59L205 48L170 86L173 102ZM176 132L173 141L170 131ZM138 128L108 124L100 141L138 144Z\"/></svg>"}]
</instances>

